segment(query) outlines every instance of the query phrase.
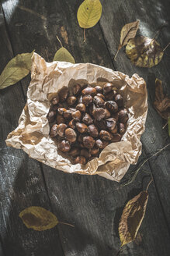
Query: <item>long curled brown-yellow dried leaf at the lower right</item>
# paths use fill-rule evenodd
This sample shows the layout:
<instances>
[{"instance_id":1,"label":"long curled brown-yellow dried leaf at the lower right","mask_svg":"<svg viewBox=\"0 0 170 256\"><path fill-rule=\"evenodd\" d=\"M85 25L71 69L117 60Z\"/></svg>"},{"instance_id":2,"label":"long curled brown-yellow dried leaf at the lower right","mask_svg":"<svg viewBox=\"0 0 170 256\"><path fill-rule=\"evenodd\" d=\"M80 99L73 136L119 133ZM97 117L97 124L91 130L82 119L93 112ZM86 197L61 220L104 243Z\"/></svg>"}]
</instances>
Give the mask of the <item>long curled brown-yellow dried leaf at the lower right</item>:
<instances>
[{"instance_id":1,"label":"long curled brown-yellow dried leaf at the lower right","mask_svg":"<svg viewBox=\"0 0 170 256\"><path fill-rule=\"evenodd\" d=\"M135 239L137 231L144 219L147 208L148 193L142 191L136 197L128 201L120 219L119 234L121 246Z\"/></svg>"}]
</instances>

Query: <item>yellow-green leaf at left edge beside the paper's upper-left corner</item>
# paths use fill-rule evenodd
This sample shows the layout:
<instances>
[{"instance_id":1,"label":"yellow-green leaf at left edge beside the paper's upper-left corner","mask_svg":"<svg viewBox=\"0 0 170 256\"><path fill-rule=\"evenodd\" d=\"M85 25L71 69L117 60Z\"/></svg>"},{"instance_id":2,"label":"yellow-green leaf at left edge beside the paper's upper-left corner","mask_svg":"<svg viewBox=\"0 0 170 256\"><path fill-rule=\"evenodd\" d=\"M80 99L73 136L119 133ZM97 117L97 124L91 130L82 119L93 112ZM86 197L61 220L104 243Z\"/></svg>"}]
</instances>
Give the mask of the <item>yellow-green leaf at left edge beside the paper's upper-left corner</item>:
<instances>
[{"instance_id":1,"label":"yellow-green leaf at left edge beside the paper's upper-left corner","mask_svg":"<svg viewBox=\"0 0 170 256\"><path fill-rule=\"evenodd\" d=\"M18 54L9 61L0 75L0 89L16 84L19 80L29 74L32 65L31 57L33 52Z\"/></svg>"}]
</instances>

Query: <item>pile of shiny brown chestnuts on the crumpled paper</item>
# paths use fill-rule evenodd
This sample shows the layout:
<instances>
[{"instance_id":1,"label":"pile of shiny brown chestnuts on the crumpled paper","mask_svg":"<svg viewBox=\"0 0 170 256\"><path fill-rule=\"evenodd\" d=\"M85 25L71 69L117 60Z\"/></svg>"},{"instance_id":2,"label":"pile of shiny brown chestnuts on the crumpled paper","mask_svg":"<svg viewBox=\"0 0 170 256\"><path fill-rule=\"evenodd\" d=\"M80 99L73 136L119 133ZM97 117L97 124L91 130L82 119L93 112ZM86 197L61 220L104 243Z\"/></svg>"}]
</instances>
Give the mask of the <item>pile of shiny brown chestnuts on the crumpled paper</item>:
<instances>
[{"instance_id":1,"label":"pile of shiny brown chestnuts on the crumpled paper","mask_svg":"<svg viewBox=\"0 0 170 256\"><path fill-rule=\"evenodd\" d=\"M73 164L85 165L99 157L108 144L121 140L128 113L113 84L75 84L57 92L47 118L50 137L56 139L57 148L67 153Z\"/></svg>"}]
</instances>

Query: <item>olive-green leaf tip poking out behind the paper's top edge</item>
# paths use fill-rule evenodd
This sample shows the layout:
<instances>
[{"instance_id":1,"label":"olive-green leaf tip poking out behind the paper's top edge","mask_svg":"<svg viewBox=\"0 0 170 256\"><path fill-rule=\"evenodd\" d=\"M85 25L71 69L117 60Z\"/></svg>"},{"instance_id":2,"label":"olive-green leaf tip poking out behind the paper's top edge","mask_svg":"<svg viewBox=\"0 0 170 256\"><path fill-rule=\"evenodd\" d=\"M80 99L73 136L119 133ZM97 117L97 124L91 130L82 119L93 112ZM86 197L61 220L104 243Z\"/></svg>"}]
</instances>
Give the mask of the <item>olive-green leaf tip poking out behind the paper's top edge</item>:
<instances>
[{"instance_id":1,"label":"olive-green leaf tip poking out behind the paper's top edge","mask_svg":"<svg viewBox=\"0 0 170 256\"><path fill-rule=\"evenodd\" d=\"M71 55L70 52L64 47L61 47L54 55L53 61L59 61L59 62L71 62L75 64L75 59Z\"/></svg>"}]
</instances>

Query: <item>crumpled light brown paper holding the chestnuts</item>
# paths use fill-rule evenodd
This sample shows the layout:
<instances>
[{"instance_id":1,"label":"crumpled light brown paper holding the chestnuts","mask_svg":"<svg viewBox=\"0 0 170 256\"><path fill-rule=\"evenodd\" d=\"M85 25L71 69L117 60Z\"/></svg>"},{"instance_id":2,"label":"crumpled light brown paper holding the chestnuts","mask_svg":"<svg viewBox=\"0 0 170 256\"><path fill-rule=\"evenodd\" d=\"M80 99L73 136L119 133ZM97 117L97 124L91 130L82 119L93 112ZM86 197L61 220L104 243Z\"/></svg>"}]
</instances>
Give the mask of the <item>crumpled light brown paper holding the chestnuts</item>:
<instances>
[{"instance_id":1,"label":"crumpled light brown paper holding the chestnuts","mask_svg":"<svg viewBox=\"0 0 170 256\"><path fill-rule=\"evenodd\" d=\"M22 148L29 157L64 172L99 174L109 180L120 181L130 164L136 164L141 155L140 138L147 116L147 89L143 78L137 74L130 78L123 73L90 63L47 63L36 53L33 54L31 78L19 126L9 133L6 144ZM92 85L113 82L123 95L129 112L127 131L122 140L109 144L99 158L86 165L71 165L69 159L58 152L57 145L49 137L49 99L61 87L71 86L75 81L81 85L87 82Z\"/></svg>"}]
</instances>

